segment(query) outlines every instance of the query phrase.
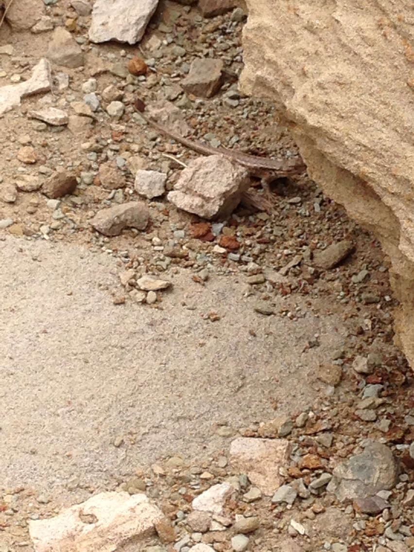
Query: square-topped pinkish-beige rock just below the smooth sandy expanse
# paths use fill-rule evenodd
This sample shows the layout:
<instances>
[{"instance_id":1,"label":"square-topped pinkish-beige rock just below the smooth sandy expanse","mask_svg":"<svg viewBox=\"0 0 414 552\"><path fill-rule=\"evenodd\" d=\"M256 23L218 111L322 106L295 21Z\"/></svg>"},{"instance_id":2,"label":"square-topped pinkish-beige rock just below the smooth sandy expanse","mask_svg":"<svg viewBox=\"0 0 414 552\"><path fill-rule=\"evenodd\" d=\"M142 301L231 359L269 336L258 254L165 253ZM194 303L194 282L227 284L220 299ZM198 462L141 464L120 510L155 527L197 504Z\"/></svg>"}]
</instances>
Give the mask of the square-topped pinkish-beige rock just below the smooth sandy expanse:
<instances>
[{"instance_id":1,"label":"square-topped pinkish-beige rock just below the smooth sandy expanse","mask_svg":"<svg viewBox=\"0 0 414 552\"><path fill-rule=\"evenodd\" d=\"M230 446L233 469L246 474L265 495L273 495L283 482L279 469L289 462L290 444L286 439L238 437Z\"/></svg>"}]
</instances>

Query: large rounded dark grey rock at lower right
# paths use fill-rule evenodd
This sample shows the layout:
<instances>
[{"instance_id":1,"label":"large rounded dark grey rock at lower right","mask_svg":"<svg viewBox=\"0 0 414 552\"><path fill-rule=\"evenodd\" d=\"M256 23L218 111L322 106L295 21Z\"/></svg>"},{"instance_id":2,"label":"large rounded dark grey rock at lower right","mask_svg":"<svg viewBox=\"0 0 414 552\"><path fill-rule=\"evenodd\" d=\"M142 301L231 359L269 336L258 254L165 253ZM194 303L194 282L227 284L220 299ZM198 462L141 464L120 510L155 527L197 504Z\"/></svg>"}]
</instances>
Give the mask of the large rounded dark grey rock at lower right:
<instances>
[{"instance_id":1,"label":"large rounded dark grey rock at lower right","mask_svg":"<svg viewBox=\"0 0 414 552\"><path fill-rule=\"evenodd\" d=\"M391 450L381 443L369 442L364 452L357 454L333 470L327 486L340 501L364 498L378 491L389 490L398 481L398 466Z\"/></svg>"}]
</instances>

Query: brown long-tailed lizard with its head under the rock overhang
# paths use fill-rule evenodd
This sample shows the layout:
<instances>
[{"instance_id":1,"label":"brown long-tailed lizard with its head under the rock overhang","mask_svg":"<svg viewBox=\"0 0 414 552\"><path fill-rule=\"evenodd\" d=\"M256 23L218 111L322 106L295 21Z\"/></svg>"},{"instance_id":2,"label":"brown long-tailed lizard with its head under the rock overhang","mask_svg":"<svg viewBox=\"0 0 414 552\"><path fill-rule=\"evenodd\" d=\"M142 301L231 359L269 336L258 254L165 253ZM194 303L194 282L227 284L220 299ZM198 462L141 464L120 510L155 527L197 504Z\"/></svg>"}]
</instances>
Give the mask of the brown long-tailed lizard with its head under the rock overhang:
<instances>
[{"instance_id":1,"label":"brown long-tailed lizard with its head under the rock overhang","mask_svg":"<svg viewBox=\"0 0 414 552\"><path fill-rule=\"evenodd\" d=\"M185 147L188 147L193 151L197 151L198 153L202 153L203 155L224 155L227 158L231 158L233 161L236 161L242 167L245 167L251 176L260 178L262 187L265 190L269 200L269 203L265 206L267 210L269 209L270 204L270 182L274 181L277 178L290 177L294 174L300 174L306 169L306 166L300 156L295 158L295 160L293 161L289 161L287 159L274 160L267 157L249 155L248 153L243 153L241 151L229 150L224 147L213 147L207 144L202 144L197 140L191 140L182 136L178 132L174 132L173 130L168 129L166 126L157 123L157 121L145 115L143 113L144 107L141 100L136 100L135 109L140 113L141 117L148 124L153 126L153 128L155 128L162 134L173 138L177 142L180 142ZM246 200L246 203L250 203L254 206L259 206L259 208L263 207L263 203L262 205L259 205L259 203L261 202L256 201L253 198L252 194L247 193Z\"/></svg>"}]
</instances>

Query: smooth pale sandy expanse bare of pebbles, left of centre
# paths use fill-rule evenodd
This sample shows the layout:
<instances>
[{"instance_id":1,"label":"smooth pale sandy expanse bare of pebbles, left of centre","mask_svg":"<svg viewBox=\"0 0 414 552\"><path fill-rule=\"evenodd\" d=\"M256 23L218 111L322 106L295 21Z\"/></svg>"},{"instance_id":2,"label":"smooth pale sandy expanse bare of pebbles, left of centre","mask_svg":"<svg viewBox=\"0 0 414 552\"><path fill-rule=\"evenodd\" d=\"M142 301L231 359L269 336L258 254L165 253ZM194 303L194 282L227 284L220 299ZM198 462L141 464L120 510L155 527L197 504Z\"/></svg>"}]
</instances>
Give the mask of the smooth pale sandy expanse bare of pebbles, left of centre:
<instances>
[{"instance_id":1,"label":"smooth pale sandy expanse bare of pebbles, left of centre","mask_svg":"<svg viewBox=\"0 0 414 552\"><path fill-rule=\"evenodd\" d=\"M228 442L220 424L311 405L315 367L345 332L334 315L257 314L236 276L203 287L184 269L168 274L157 310L112 304L99 284L120 269L104 253L6 238L0 258L4 486L56 493L74 476L99 486L165 455L208 455ZM211 311L221 319L203 319ZM303 353L316 332L321 346Z\"/></svg>"}]
</instances>

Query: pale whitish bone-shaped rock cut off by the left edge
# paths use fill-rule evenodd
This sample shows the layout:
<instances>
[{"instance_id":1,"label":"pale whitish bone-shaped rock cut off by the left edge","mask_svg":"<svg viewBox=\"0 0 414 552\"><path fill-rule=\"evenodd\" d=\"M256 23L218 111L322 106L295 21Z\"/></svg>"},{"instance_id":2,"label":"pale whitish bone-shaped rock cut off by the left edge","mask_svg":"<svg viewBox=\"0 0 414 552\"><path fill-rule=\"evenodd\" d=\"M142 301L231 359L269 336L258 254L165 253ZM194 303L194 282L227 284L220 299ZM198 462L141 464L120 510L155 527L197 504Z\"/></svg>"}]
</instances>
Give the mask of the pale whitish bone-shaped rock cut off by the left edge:
<instances>
[{"instance_id":1,"label":"pale whitish bone-shaped rock cut off by the left edge","mask_svg":"<svg viewBox=\"0 0 414 552\"><path fill-rule=\"evenodd\" d=\"M31 94L47 92L51 87L50 63L41 59L33 67L31 77L19 84L8 84L0 88L0 116L20 105L20 99Z\"/></svg>"}]
</instances>

